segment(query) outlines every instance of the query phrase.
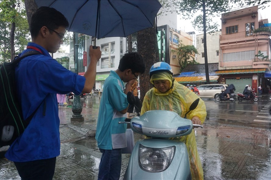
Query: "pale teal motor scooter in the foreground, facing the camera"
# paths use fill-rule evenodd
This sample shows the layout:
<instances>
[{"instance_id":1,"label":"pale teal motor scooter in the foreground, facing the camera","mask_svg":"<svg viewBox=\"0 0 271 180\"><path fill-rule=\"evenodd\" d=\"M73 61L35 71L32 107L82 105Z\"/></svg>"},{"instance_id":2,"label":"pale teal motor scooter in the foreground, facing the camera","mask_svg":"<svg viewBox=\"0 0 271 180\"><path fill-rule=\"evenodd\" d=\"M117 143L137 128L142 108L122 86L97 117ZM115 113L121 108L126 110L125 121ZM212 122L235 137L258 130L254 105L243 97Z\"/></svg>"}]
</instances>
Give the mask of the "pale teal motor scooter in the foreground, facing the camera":
<instances>
[{"instance_id":1,"label":"pale teal motor scooter in the foreground, facing the camera","mask_svg":"<svg viewBox=\"0 0 271 180\"><path fill-rule=\"evenodd\" d=\"M132 97L131 94L127 93L127 99L129 104L134 104L128 97ZM198 102L199 99L193 102L188 112L195 109ZM124 179L191 179L186 145L169 138L188 135L193 126L203 126L194 125L191 120L166 110L147 111L127 120L130 122L119 123L130 123L134 132L150 139L139 140L135 144Z\"/></svg>"}]
</instances>

